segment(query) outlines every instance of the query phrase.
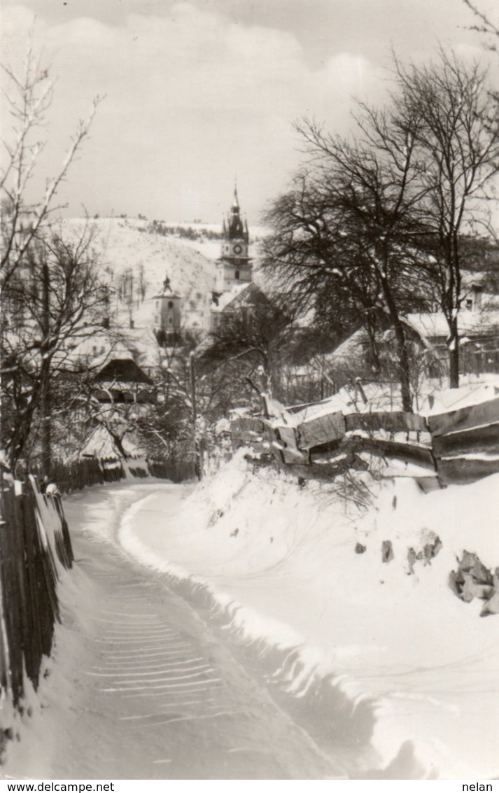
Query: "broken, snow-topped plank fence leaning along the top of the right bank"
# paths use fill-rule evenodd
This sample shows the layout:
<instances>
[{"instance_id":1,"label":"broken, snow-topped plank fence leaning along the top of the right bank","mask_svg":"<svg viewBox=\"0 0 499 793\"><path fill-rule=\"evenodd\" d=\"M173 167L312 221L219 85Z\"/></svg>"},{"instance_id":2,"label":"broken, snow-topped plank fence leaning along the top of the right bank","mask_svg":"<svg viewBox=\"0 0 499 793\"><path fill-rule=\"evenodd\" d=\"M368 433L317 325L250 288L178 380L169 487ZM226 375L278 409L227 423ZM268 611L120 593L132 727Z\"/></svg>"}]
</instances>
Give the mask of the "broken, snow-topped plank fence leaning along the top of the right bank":
<instances>
[{"instance_id":1,"label":"broken, snow-topped plank fence leaning along the top of the right bank","mask_svg":"<svg viewBox=\"0 0 499 793\"><path fill-rule=\"evenodd\" d=\"M499 397L428 419L402 411L290 416L283 408L280 419L234 419L231 431L233 448L250 446L255 463L277 462L302 477L330 479L367 468L366 452L416 465L415 476L439 485L499 471Z\"/></svg>"}]
</instances>

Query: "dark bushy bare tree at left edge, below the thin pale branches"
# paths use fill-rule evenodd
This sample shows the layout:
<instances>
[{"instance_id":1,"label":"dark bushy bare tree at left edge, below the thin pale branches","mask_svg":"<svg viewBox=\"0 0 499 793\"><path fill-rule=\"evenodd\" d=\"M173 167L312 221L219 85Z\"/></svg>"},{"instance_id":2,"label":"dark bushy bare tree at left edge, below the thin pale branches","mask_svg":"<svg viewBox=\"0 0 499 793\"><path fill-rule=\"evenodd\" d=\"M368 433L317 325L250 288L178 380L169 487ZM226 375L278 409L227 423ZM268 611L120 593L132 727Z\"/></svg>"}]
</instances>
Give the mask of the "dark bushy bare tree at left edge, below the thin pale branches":
<instances>
[{"instance_id":1,"label":"dark bushy bare tree at left edge, below the thin pale branches","mask_svg":"<svg viewBox=\"0 0 499 793\"><path fill-rule=\"evenodd\" d=\"M2 294L2 435L14 465L37 414L48 473L52 390L64 372L75 369L76 345L102 327L109 296L91 229L71 241L57 229L44 231L31 240Z\"/></svg>"}]
</instances>

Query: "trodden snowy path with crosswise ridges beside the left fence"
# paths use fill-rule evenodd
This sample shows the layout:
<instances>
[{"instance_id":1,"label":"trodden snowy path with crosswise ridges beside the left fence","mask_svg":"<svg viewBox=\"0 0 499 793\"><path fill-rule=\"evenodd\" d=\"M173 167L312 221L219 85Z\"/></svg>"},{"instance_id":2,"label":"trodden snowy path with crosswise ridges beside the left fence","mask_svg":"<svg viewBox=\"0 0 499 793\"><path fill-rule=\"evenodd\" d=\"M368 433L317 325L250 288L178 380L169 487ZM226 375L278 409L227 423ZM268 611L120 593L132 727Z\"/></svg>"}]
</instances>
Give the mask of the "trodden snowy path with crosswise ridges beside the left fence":
<instances>
[{"instance_id":1,"label":"trodden snowy path with crosswise ridges beside the left fence","mask_svg":"<svg viewBox=\"0 0 499 793\"><path fill-rule=\"evenodd\" d=\"M111 542L75 531L75 515L78 562L64 584L66 627L44 684L46 707L13 750L10 774L343 776L163 577Z\"/></svg>"}]
</instances>

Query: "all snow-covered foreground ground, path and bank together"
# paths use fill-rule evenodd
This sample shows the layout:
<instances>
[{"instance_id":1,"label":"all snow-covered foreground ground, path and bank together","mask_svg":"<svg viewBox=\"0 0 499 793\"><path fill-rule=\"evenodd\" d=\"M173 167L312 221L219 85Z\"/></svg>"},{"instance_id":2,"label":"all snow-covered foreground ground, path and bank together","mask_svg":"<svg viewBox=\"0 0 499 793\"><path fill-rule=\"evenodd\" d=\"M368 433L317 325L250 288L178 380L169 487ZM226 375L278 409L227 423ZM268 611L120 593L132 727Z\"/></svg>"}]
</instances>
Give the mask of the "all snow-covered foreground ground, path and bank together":
<instances>
[{"instance_id":1,"label":"all snow-covered foreground ground, path and bank together","mask_svg":"<svg viewBox=\"0 0 499 793\"><path fill-rule=\"evenodd\" d=\"M196 488L71 496L79 561L7 772L497 776L499 618L448 586L463 549L497 565L497 477L428 496L386 481L355 519L242 457Z\"/></svg>"}]
</instances>

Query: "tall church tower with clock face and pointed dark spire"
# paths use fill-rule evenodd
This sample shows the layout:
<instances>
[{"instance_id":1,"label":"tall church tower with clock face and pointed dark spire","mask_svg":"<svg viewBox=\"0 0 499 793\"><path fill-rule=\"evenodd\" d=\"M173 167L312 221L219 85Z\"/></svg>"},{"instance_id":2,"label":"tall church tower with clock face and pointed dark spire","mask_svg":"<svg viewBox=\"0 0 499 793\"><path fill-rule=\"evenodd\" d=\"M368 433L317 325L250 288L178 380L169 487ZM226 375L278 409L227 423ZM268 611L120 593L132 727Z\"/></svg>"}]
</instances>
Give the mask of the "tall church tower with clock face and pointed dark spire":
<instances>
[{"instance_id":1,"label":"tall church tower with clock face and pointed dark spire","mask_svg":"<svg viewBox=\"0 0 499 793\"><path fill-rule=\"evenodd\" d=\"M248 256L248 223L241 219L237 187L227 218L222 225L221 257L217 260L217 292L228 292L237 284L252 280L251 259Z\"/></svg>"}]
</instances>

